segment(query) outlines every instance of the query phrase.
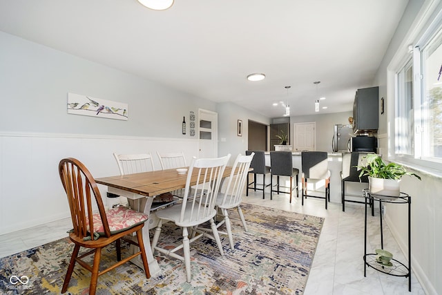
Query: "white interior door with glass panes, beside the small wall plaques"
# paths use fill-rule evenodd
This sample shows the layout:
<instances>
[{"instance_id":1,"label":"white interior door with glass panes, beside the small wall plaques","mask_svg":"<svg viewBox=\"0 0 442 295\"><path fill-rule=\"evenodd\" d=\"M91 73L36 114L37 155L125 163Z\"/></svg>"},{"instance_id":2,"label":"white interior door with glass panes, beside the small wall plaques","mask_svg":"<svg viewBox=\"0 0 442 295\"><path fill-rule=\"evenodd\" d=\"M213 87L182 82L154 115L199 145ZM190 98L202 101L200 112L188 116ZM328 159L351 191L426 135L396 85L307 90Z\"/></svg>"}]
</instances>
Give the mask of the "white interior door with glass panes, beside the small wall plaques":
<instances>
[{"instance_id":1,"label":"white interior door with glass panes, beside the small wall plaques","mask_svg":"<svg viewBox=\"0 0 442 295\"><path fill-rule=\"evenodd\" d=\"M218 157L218 113L198 110L199 158Z\"/></svg>"}]
</instances>

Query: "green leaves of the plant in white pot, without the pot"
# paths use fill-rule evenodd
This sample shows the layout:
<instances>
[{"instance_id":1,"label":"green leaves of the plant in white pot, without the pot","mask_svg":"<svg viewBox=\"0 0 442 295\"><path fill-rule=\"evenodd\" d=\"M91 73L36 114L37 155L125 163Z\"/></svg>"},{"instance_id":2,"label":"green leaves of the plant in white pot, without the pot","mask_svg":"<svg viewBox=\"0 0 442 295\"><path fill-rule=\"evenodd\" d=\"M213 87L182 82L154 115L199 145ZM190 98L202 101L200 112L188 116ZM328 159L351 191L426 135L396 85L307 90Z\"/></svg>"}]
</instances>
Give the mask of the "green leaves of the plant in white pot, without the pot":
<instances>
[{"instance_id":1,"label":"green leaves of the plant in white pot, without the pot","mask_svg":"<svg viewBox=\"0 0 442 295\"><path fill-rule=\"evenodd\" d=\"M395 179L400 180L403 175L412 175L421 180L416 173L407 172L404 166L390 162L385 164L382 158L375 153L369 153L364 157L367 160L366 166L356 166L361 169L359 178L367 175L372 178Z\"/></svg>"}]
</instances>

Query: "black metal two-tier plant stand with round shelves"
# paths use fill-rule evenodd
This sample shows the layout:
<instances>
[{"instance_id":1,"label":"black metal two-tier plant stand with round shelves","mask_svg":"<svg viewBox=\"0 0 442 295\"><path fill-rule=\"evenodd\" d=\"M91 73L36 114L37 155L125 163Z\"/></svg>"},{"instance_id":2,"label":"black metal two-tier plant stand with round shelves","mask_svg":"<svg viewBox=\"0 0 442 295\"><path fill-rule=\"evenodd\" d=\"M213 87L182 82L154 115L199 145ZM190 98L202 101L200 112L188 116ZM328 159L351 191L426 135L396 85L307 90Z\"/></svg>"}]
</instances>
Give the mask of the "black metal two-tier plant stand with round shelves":
<instances>
[{"instance_id":1,"label":"black metal two-tier plant stand with round shelves","mask_svg":"<svg viewBox=\"0 0 442 295\"><path fill-rule=\"evenodd\" d=\"M404 276L408 278L408 291L412 291L412 248L411 248L411 204L412 199L407 193L401 193L399 197L385 196L376 193L370 193L368 189L364 189L365 197L365 228L364 228L364 276L367 275L367 266L376 269L378 272L383 272L390 276ZM392 203L392 204L408 204L408 265L401 263L400 261L393 259L391 260L391 265L383 265L376 262L376 254L367 254L367 204L370 202L374 206L374 201L379 202L379 208L382 208L382 203ZM381 226L381 249L384 248L383 240L383 222L382 222L382 211L379 213L379 220Z\"/></svg>"}]
</instances>

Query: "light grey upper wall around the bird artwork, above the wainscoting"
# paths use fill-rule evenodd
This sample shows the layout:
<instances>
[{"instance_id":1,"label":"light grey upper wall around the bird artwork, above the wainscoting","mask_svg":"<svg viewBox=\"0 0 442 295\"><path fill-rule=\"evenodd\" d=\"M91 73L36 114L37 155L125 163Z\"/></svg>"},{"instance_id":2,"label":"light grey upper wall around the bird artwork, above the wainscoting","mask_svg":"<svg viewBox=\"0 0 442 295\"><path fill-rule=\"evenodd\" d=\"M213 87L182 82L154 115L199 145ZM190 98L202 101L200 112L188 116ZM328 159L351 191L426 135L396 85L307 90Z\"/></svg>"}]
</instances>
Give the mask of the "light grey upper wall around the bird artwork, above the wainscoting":
<instances>
[{"instance_id":1,"label":"light grey upper wall around the bird artwork, above the wainscoting","mask_svg":"<svg viewBox=\"0 0 442 295\"><path fill-rule=\"evenodd\" d=\"M216 104L114 68L0 32L0 131L182 135L182 117ZM148 65L146 65L148 66ZM128 104L128 121L68 115L77 93Z\"/></svg>"}]
</instances>

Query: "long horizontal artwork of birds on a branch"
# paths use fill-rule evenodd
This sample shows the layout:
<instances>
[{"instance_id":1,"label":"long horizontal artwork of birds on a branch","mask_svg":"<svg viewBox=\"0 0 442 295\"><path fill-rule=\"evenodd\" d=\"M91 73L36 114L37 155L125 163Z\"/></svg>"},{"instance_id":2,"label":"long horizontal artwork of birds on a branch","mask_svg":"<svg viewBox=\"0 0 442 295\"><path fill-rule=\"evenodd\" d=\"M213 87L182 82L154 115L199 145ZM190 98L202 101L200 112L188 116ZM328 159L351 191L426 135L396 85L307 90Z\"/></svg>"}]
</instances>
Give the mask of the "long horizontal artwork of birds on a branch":
<instances>
[{"instance_id":1,"label":"long horizontal artwork of birds on a branch","mask_svg":"<svg viewBox=\"0 0 442 295\"><path fill-rule=\"evenodd\" d=\"M128 104L68 93L68 114L128 120Z\"/></svg>"}]
</instances>

